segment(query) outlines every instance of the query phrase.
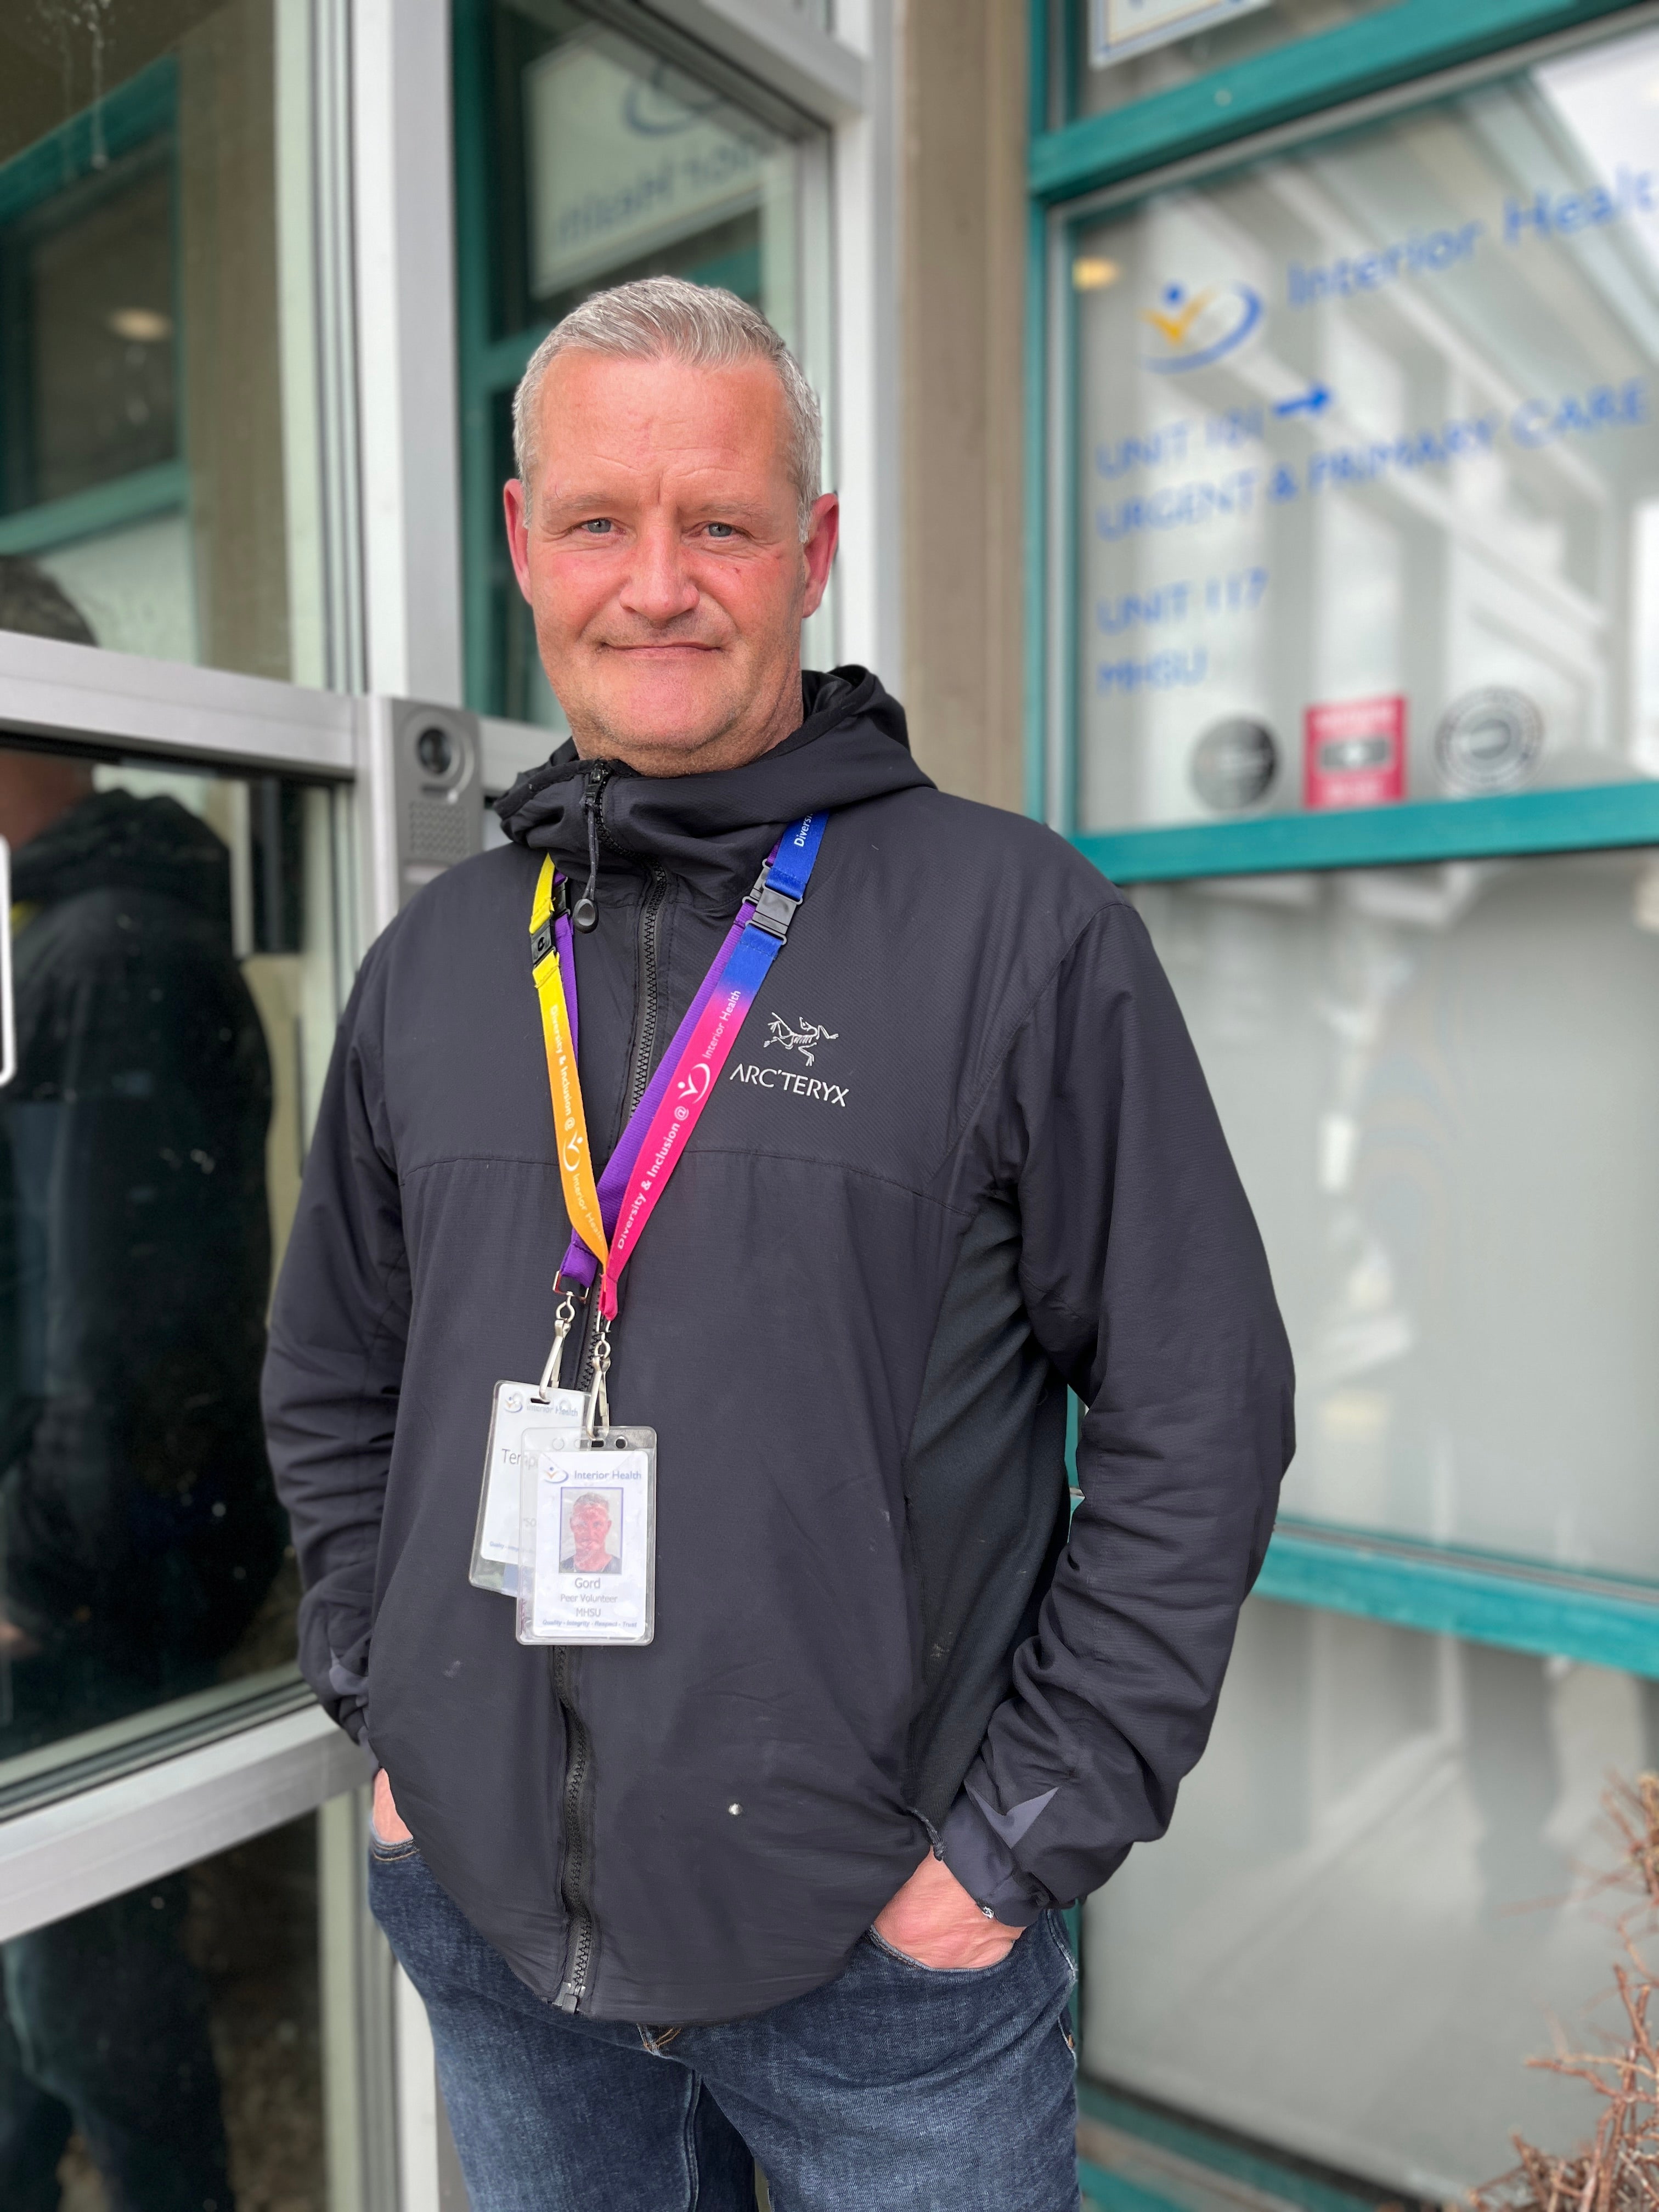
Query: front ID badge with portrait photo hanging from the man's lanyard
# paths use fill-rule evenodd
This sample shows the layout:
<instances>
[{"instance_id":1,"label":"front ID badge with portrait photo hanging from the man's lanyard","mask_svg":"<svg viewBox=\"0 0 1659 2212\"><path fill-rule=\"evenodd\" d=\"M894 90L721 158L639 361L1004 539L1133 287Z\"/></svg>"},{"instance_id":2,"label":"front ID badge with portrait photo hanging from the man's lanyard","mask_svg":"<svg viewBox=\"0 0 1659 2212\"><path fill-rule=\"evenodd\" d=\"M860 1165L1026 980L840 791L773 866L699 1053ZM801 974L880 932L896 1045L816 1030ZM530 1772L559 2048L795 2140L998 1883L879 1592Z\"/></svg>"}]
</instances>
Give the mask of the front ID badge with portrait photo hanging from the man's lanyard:
<instances>
[{"instance_id":1,"label":"front ID badge with portrait photo hanging from the man's lanyard","mask_svg":"<svg viewBox=\"0 0 1659 2212\"><path fill-rule=\"evenodd\" d=\"M650 1644L657 1431L599 1429L522 1453L520 1644Z\"/></svg>"}]
</instances>

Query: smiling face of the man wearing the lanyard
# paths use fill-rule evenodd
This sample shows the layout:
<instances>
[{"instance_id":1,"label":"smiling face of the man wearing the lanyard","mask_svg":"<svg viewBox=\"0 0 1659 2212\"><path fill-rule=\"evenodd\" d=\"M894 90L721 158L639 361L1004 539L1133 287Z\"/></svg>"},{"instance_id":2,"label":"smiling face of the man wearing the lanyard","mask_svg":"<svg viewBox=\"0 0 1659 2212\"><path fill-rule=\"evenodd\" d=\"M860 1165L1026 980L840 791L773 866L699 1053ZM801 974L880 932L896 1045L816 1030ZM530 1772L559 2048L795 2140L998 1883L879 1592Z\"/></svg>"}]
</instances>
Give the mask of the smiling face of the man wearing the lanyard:
<instances>
[{"instance_id":1,"label":"smiling face of the man wearing the lanyard","mask_svg":"<svg viewBox=\"0 0 1659 2212\"><path fill-rule=\"evenodd\" d=\"M801 544L772 367L560 354L540 429L507 535L577 750L672 776L776 745L801 721L838 507L825 493Z\"/></svg>"}]
</instances>

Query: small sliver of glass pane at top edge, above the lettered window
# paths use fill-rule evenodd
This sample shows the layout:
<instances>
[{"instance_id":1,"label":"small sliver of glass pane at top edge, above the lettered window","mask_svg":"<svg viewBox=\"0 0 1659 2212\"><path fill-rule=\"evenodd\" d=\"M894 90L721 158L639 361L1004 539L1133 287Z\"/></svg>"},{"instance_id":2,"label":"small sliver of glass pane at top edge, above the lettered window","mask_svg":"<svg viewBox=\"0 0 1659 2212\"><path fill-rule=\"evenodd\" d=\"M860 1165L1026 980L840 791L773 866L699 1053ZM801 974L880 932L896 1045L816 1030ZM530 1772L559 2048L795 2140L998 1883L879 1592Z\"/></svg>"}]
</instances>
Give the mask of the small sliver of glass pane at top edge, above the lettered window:
<instances>
[{"instance_id":1,"label":"small sliver of glass pane at top edge, above the lettered window","mask_svg":"<svg viewBox=\"0 0 1659 2212\"><path fill-rule=\"evenodd\" d=\"M1055 122L1168 93L1394 0L1051 0L1073 97ZM1068 111L1068 113L1066 113Z\"/></svg>"}]
</instances>

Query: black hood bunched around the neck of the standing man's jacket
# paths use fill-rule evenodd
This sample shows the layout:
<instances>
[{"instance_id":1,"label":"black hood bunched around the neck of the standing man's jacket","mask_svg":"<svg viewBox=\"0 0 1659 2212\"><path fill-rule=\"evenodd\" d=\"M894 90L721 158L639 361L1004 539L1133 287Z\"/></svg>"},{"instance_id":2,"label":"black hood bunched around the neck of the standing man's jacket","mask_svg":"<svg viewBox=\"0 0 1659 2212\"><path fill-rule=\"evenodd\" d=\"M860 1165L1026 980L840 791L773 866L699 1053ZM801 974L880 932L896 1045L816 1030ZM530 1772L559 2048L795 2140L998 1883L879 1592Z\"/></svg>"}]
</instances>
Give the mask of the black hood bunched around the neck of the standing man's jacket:
<instances>
[{"instance_id":1,"label":"black hood bunched around the neck of the standing man's jacket","mask_svg":"<svg viewBox=\"0 0 1659 2212\"><path fill-rule=\"evenodd\" d=\"M801 728L743 768L701 776L639 776L622 761L582 761L566 741L495 801L518 845L551 852L566 874L588 869L582 810L604 768L599 880L617 869L666 867L697 894L732 907L748 891L785 823L836 812L916 785L931 787L909 754L902 706L867 668L801 677Z\"/></svg>"}]
</instances>

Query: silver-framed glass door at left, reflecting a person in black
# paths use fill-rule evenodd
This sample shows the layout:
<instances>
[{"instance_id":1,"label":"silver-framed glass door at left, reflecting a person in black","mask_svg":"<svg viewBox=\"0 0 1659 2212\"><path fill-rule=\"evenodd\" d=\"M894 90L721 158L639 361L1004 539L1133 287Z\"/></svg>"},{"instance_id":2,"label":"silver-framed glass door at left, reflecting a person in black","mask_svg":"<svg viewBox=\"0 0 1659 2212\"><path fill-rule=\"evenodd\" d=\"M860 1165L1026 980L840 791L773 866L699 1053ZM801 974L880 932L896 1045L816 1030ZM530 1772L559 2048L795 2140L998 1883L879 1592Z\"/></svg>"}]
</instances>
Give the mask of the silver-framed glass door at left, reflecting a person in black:
<instances>
[{"instance_id":1,"label":"silver-framed glass door at left, reflecting a person in black","mask_svg":"<svg viewBox=\"0 0 1659 2212\"><path fill-rule=\"evenodd\" d=\"M0 15L4 2203L398 2190L365 1761L294 1666L259 1418L387 918L349 697L343 27L330 0Z\"/></svg>"}]
</instances>

